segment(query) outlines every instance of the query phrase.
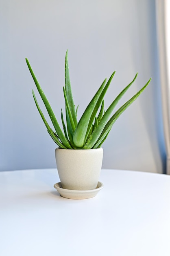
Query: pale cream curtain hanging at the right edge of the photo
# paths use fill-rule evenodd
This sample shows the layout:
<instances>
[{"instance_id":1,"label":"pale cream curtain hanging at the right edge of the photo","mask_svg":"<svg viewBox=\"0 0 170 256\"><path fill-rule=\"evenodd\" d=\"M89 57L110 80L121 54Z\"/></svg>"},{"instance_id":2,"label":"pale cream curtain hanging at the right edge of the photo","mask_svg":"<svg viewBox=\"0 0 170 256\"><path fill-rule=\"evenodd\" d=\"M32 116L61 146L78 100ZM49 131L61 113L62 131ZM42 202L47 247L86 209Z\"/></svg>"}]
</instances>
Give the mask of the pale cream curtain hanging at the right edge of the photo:
<instances>
[{"instance_id":1,"label":"pale cream curtain hanging at the right edge of the photo","mask_svg":"<svg viewBox=\"0 0 170 256\"><path fill-rule=\"evenodd\" d=\"M166 173L170 175L170 1L156 0L157 42L166 142Z\"/></svg>"}]
</instances>

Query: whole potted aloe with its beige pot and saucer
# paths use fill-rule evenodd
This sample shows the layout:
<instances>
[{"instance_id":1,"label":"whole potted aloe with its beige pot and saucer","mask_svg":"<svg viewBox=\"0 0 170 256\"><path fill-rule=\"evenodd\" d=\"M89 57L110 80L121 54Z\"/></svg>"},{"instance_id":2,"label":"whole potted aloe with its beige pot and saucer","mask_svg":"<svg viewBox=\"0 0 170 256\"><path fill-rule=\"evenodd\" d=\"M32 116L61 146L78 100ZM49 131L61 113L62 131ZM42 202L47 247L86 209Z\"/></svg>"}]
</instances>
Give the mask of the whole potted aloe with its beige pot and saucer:
<instances>
[{"instance_id":1,"label":"whole potted aloe with its beige pot and saucer","mask_svg":"<svg viewBox=\"0 0 170 256\"><path fill-rule=\"evenodd\" d=\"M63 87L66 122L64 121L63 111L61 110L61 120L63 125L63 129L61 129L27 58L26 63L41 99L44 102L48 115L50 116L52 125L54 126L54 130L52 130L39 107L33 91L33 98L39 114L44 121L48 133L58 145L58 148L55 150L55 157L61 183L57 183L54 186L61 195L67 198L89 198L96 195L102 188L102 183L98 182L103 157L101 145L107 138L118 117L120 117L124 110L139 97L150 83L151 79L149 79L146 85L129 99L129 101L124 103L124 105L112 114L118 101L130 88L137 77L136 74L133 81L120 92L105 111L103 98L115 74L115 72L113 72L108 81L107 79L103 81L102 85L85 109L81 119L78 121L78 107L75 107L72 96L67 51L65 55L65 87Z\"/></svg>"}]
</instances>

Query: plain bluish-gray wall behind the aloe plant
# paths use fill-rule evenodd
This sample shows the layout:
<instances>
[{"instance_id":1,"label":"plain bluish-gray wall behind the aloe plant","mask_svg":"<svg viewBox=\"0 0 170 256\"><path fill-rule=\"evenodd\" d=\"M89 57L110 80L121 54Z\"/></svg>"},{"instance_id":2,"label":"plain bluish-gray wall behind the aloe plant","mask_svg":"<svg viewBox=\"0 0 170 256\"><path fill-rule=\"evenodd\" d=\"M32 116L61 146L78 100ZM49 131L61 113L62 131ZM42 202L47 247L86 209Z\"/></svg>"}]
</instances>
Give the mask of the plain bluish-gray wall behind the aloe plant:
<instances>
[{"instance_id":1,"label":"plain bluish-gray wall behind the aloe plant","mask_svg":"<svg viewBox=\"0 0 170 256\"><path fill-rule=\"evenodd\" d=\"M152 76L103 144L103 167L164 171L154 0L1 0L0 38L1 171L55 167L56 145L33 101L25 57L60 119L66 49L79 117L114 70L106 107L136 72L122 104Z\"/></svg>"}]
</instances>

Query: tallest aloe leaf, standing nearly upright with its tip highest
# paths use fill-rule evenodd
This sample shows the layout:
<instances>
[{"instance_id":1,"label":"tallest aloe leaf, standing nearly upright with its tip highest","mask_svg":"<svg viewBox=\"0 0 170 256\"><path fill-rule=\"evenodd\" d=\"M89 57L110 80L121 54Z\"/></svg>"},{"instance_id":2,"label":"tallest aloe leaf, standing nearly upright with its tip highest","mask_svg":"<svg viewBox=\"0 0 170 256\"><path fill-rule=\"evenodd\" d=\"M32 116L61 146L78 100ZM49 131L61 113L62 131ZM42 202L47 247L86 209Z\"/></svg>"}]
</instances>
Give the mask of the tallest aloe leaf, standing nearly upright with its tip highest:
<instances>
[{"instance_id":1,"label":"tallest aloe leaf, standing nearly upright with its tip highest","mask_svg":"<svg viewBox=\"0 0 170 256\"><path fill-rule=\"evenodd\" d=\"M68 105L70 108L70 112L72 114L74 126L76 127L77 116L76 116L76 111L75 111L75 106L74 106L74 101L73 101L73 96L72 96L72 88L71 88L71 83L70 83L69 66L68 66L68 50L65 54L65 93L66 93L66 96L68 99Z\"/></svg>"}]
</instances>

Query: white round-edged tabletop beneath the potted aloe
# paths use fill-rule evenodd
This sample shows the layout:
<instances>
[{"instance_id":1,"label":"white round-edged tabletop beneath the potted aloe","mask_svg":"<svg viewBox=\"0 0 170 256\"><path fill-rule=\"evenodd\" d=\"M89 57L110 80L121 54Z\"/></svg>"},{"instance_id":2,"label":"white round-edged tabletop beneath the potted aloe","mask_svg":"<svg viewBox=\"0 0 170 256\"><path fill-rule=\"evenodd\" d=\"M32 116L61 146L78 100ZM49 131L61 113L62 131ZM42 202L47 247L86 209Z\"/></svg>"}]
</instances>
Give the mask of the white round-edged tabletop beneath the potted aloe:
<instances>
[{"instance_id":1,"label":"white round-edged tabletop beneath the potted aloe","mask_svg":"<svg viewBox=\"0 0 170 256\"><path fill-rule=\"evenodd\" d=\"M0 173L1 256L170 256L170 176L102 170L95 198L53 188L56 169Z\"/></svg>"}]
</instances>

